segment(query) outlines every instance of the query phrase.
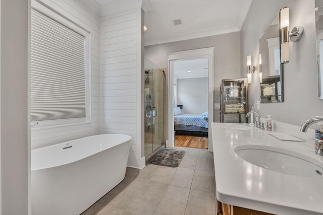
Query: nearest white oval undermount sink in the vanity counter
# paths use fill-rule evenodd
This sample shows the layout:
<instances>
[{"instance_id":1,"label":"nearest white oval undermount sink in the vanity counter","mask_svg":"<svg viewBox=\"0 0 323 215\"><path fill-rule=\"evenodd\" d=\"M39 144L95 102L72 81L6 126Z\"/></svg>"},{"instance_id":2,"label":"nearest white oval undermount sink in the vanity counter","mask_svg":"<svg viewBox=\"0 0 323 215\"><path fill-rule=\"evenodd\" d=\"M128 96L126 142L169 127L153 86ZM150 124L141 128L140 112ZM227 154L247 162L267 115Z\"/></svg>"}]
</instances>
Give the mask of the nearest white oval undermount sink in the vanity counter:
<instances>
[{"instance_id":1,"label":"nearest white oval undermount sink in the vanity counter","mask_svg":"<svg viewBox=\"0 0 323 215\"><path fill-rule=\"evenodd\" d=\"M243 160L258 167L302 177L322 177L323 168L310 162L301 154L274 147L245 145L235 148L235 153Z\"/></svg>"}]
</instances>

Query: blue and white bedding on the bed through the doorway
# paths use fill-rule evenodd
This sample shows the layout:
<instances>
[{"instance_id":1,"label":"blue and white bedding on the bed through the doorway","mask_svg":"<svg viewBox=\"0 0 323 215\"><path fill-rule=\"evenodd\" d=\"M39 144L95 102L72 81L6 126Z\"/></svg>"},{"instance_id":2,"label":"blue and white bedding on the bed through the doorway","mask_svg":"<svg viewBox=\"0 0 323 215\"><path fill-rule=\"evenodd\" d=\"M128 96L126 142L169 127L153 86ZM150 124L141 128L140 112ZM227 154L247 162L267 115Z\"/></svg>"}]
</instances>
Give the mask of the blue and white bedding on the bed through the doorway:
<instances>
[{"instance_id":1,"label":"blue and white bedding on the bed through the doorway","mask_svg":"<svg viewBox=\"0 0 323 215\"><path fill-rule=\"evenodd\" d=\"M195 125L208 128L208 122L201 115L181 114L174 116L174 124L177 125Z\"/></svg>"}]
</instances>

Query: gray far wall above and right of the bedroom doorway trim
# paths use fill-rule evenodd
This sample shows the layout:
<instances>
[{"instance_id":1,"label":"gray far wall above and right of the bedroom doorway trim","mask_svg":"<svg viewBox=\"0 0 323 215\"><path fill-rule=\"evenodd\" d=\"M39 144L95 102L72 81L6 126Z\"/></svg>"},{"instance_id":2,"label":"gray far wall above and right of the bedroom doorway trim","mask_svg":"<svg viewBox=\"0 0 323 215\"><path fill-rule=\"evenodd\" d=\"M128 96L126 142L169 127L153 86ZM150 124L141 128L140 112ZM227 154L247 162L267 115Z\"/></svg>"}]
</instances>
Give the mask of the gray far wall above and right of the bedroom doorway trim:
<instances>
[{"instance_id":1,"label":"gray far wall above and right of the bedroom doorway trim","mask_svg":"<svg viewBox=\"0 0 323 215\"><path fill-rule=\"evenodd\" d=\"M165 68L168 65L168 53L213 46L214 103L220 103L222 79L240 78L240 32L145 46L145 57L157 67ZM214 109L213 118L214 122L220 122L219 109Z\"/></svg>"}]
</instances>

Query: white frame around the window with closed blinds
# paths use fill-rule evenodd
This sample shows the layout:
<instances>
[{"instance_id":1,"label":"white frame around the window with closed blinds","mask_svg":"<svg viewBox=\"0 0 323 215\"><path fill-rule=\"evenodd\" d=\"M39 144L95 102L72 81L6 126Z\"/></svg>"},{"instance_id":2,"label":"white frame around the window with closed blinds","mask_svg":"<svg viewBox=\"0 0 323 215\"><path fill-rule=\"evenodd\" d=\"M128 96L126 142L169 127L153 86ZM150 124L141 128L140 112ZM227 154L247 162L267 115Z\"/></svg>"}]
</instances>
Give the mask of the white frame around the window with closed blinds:
<instances>
[{"instance_id":1,"label":"white frame around the window with closed blinds","mask_svg":"<svg viewBox=\"0 0 323 215\"><path fill-rule=\"evenodd\" d=\"M49 127L70 126L73 124L84 124L91 122L91 33L82 26L63 16L56 10L49 8L46 5L33 1L31 5L32 10L36 10L50 19L61 23L62 25L72 29L73 31L81 34L85 38L85 117L80 118L67 118L55 119L44 121L31 121L35 125L33 129L45 129ZM31 25L31 23L30 23ZM31 51L31 50L30 50ZM29 53L30 54L30 53ZM31 71L30 71L31 74ZM29 80L30 82L30 80Z\"/></svg>"}]
</instances>

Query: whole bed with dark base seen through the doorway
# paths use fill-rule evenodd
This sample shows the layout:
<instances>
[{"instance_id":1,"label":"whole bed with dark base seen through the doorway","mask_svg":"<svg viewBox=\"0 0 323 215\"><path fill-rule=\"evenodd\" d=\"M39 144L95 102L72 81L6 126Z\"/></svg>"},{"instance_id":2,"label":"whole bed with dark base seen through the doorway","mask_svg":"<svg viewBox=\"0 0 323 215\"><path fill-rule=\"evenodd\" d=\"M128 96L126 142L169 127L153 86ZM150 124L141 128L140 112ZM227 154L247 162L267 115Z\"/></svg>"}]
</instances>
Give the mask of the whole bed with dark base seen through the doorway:
<instances>
[{"instance_id":1,"label":"whole bed with dark base seen through the doorway","mask_svg":"<svg viewBox=\"0 0 323 215\"><path fill-rule=\"evenodd\" d=\"M174 130L175 131L195 131L208 132L208 113L204 112L201 115L193 114L177 114L174 112Z\"/></svg>"}]
</instances>

